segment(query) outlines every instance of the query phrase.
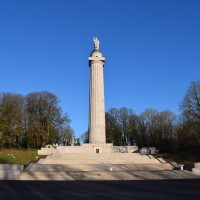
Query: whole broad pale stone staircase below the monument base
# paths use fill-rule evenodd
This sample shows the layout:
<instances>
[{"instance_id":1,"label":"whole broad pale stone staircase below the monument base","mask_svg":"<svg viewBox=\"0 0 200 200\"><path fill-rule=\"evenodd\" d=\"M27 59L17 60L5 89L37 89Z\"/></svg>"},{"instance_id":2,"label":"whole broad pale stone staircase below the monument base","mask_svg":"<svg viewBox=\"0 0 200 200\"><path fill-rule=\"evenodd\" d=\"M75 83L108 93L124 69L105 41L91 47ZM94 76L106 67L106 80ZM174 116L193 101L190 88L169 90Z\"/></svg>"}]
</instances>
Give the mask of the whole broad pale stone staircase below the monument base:
<instances>
[{"instance_id":1,"label":"whole broad pale stone staircase below the monument base","mask_svg":"<svg viewBox=\"0 0 200 200\"><path fill-rule=\"evenodd\" d=\"M139 153L64 154L30 164L17 180L157 180L199 178Z\"/></svg>"}]
</instances>

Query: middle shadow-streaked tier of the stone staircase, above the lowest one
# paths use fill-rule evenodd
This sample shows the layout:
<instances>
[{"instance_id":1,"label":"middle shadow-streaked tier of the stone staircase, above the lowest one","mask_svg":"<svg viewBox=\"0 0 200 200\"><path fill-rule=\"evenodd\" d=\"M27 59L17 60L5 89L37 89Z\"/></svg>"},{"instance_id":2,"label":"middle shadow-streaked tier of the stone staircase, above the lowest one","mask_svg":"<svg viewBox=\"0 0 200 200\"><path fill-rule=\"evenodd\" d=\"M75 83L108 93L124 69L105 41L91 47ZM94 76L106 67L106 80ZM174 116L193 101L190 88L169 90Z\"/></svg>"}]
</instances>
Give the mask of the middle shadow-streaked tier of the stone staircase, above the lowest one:
<instances>
[{"instance_id":1,"label":"middle shadow-streaked tier of the stone staircase, above the lowest one","mask_svg":"<svg viewBox=\"0 0 200 200\"><path fill-rule=\"evenodd\" d=\"M36 164L31 163L25 169L25 171L37 171L37 172L71 172L71 171L134 171L134 170L172 170L173 167L170 164Z\"/></svg>"}]
</instances>

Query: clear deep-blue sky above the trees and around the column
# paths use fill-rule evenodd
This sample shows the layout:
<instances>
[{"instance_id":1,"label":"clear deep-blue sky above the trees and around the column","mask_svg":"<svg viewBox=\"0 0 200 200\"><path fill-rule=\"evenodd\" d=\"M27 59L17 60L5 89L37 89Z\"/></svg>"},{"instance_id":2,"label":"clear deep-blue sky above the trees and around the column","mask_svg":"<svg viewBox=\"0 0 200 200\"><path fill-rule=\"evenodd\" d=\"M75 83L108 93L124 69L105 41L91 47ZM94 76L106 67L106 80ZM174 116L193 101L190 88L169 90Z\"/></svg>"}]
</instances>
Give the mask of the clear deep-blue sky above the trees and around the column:
<instances>
[{"instance_id":1,"label":"clear deep-blue sky above the trees and around the column","mask_svg":"<svg viewBox=\"0 0 200 200\"><path fill-rule=\"evenodd\" d=\"M0 0L0 92L56 94L79 136L93 36L106 57L106 110L179 113L200 78L199 0Z\"/></svg>"}]
</instances>

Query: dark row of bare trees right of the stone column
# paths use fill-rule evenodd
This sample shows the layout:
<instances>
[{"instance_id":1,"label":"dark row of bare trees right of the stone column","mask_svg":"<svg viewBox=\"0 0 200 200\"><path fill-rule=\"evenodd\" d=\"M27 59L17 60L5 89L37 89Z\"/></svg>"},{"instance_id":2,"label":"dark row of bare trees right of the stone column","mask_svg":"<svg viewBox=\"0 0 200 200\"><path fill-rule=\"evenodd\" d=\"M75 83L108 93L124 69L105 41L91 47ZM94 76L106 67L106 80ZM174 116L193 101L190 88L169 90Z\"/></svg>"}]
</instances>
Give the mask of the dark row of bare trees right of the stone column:
<instances>
[{"instance_id":1,"label":"dark row of bare trees right of the stone column","mask_svg":"<svg viewBox=\"0 0 200 200\"><path fill-rule=\"evenodd\" d=\"M114 145L156 147L161 151L200 148L200 82L191 82L180 104L180 115L169 110L111 108L106 112L106 138Z\"/></svg>"}]
</instances>

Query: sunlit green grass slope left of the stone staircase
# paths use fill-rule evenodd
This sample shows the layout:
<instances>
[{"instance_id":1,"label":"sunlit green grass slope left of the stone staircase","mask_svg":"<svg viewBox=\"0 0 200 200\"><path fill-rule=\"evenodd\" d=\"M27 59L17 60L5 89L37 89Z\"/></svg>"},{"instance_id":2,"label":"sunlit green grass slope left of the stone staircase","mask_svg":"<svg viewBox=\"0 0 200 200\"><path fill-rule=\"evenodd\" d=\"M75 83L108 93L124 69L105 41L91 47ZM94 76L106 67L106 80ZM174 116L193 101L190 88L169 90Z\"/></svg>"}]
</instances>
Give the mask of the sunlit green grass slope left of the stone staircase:
<instances>
[{"instance_id":1,"label":"sunlit green grass slope left of the stone staircase","mask_svg":"<svg viewBox=\"0 0 200 200\"><path fill-rule=\"evenodd\" d=\"M36 149L0 149L0 163L26 165L36 160Z\"/></svg>"}]
</instances>

